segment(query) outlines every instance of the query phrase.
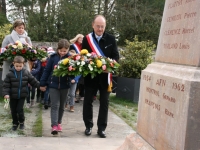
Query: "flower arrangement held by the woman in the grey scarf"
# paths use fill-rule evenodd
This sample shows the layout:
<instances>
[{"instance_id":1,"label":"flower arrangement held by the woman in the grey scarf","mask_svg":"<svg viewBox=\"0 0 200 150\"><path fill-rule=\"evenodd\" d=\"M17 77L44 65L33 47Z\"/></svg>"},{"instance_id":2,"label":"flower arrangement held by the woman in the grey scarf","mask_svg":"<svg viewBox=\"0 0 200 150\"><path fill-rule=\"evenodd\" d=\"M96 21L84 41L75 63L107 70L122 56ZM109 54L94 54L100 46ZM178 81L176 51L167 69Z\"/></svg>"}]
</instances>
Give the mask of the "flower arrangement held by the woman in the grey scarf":
<instances>
[{"instance_id":1,"label":"flower arrangement held by the woman in the grey scarf","mask_svg":"<svg viewBox=\"0 0 200 150\"><path fill-rule=\"evenodd\" d=\"M1 48L0 51L0 64L4 60L12 61L15 56L22 56L26 60L31 58L42 59L47 57L47 53L42 50L36 50L29 44L22 44L20 41L16 41L14 44L9 44L5 48Z\"/></svg>"}]
</instances>

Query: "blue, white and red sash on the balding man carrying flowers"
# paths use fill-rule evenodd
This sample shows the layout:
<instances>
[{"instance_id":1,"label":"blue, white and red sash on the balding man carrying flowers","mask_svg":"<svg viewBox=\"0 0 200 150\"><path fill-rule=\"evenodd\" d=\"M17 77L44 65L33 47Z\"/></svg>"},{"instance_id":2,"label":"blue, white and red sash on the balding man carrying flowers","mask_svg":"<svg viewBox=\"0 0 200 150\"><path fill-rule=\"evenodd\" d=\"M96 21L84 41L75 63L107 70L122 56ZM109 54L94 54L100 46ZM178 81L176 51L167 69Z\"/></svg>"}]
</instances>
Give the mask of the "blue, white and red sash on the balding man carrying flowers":
<instances>
[{"instance_id":1,"label":"blue, white and red sash on the balding man carrying flowers","mask_svg":"<svg viewBox=\"0 0 200 150\"><path fill-rule=\"evenodd\" d=\"M92 33L86 35L86 39L90 45L90 48L94 53L96 53L99 56L104 56L103 51L99 47L99 44L95 41L94 37L92 36ZM112 91L112 74L108 73L108 92Z\"/></svg>"}]
</instances>

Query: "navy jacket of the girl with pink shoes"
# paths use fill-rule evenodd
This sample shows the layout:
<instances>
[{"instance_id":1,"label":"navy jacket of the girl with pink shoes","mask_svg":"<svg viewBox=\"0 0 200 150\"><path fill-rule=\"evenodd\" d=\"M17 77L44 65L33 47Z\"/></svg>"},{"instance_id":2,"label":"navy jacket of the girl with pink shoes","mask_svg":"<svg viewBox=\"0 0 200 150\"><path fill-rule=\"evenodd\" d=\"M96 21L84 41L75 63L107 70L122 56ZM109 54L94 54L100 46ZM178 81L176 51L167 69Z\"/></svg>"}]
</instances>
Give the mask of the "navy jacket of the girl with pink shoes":
<instances>
[{"instance_id":1,"label":"navy jacket of the girl with pink shoes","mask_svg":"<svg viewBox=\"0 0 200 150\"><path fill-rule=\"evenodd\" d=\"M47 66L44 69L42 77L40 79L40 86L49 86L49 88L55 89L68 89L70 88L71 78L69 76L57 77L53 75L53 70L58 62L62 59L67 58L69 55L65 55L62 58L57 53L52 54L48 59Z\"/></svg>"}]
</instances>

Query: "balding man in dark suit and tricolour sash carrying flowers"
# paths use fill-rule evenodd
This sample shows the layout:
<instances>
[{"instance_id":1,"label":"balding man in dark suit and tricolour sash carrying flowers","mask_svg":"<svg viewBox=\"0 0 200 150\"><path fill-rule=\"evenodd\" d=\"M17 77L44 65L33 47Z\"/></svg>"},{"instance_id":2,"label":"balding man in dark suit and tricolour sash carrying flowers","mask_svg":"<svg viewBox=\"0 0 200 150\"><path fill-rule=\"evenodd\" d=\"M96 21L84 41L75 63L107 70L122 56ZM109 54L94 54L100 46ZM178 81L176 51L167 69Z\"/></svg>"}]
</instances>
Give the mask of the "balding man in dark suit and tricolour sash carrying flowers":
<instances>
[{"instance_id":1,"label":"balding man in dark suit and tricolour sash carrying flowers","mask_svg":"<svg viewBox=\"0 0 200 150\"><path fill-rule=\"evenodd\" d=\"M95 16L92 22L93 32L86 35L83 38L82 49L87 49L89 52L101 51L103 56L115 59L118 61L119 52L117 50L117 44L115 37L106 33L106 19L102 15ZM95 43L95 44L91 44ZM95 50L95 48L97 50ZM98 50L99 49L99 50ZM108 92L108 72L98 74L96 77L91 78L90 74L84 78L85 83L85 97L83 104L83 120L85 123L85 135L91 135L93 127L93 96L95 91L100 92L100 108L97 120L98 135L101 138L106 137L105 129L107 127L108 120L108 104L109 94Z\"/></svg>"}]
</instances>

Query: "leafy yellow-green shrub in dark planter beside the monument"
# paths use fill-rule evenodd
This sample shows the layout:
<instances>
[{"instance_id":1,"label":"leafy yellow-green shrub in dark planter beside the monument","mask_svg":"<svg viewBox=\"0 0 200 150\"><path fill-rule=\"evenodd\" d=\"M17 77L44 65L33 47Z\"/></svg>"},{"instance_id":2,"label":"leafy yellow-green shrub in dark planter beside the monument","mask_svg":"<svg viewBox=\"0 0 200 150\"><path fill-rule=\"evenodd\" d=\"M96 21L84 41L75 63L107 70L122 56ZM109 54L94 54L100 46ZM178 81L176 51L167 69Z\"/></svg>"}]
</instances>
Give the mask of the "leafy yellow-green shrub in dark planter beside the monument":
<instances>
[{"instance_id":1,"label":"leafy yellow-green shrub in dark planter beside the monument","mask_svg":"<svg viewBox=\"0 0 200 150\"><path fill-rule=\"evenodd\" d=\"M120 52L120 67L117 75L127 78L140 79L141 71L153 61L153 52L156 47L153 41L138 41L135 36L134 41L125 40L125 48Z\"/></svg>"}]
</instances>

